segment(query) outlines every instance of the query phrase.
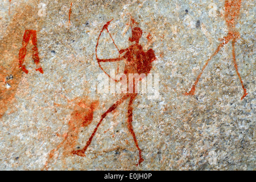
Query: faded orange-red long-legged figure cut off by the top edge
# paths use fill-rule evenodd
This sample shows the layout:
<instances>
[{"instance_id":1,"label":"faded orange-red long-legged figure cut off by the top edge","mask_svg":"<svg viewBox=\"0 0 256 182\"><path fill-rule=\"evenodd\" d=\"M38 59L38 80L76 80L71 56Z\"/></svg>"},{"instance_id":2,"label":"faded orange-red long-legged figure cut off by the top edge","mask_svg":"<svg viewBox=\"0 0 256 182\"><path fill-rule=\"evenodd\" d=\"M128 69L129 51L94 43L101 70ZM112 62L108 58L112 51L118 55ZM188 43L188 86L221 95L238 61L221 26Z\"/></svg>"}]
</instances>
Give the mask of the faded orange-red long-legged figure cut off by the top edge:
<instances>
[{"instance_id":1,"label":"faded orange-red long-legged figure cut off by the top edge","mask_svg":"<svg viewBox=\"0 0 256 182\"><path fill-rule=\"evenodd\" d=\"M240 73L238 72L237 61L236 61L236 53L235 53L235 44L237 40L240 38L240 33L236 30L236 24L238 20L238 16L240 15L241 9L241 0L226 0L225 1L225 21L226 26L228 27L228 35L226 35L223 39L221 39L221 43L218 45L216 51L210 56L210 58L205 63L202 71L200 72L199 76L197 76L195 83L193 84L191 90L187 93L184 93L186 96L191 96L195 94L196 84L199 82L199 79L204 72L204 69L207 67L209 61L212 59L213 56L217 55L220 49L225 45L228 44L230 40L232 40L232 56L233 56L233 63L234 67L236 68L237 75L240 79L242 88L243 88L243 96L241 100L247 95L246 88L243 85L242 78Z\"/></svg>"}]
</instances>

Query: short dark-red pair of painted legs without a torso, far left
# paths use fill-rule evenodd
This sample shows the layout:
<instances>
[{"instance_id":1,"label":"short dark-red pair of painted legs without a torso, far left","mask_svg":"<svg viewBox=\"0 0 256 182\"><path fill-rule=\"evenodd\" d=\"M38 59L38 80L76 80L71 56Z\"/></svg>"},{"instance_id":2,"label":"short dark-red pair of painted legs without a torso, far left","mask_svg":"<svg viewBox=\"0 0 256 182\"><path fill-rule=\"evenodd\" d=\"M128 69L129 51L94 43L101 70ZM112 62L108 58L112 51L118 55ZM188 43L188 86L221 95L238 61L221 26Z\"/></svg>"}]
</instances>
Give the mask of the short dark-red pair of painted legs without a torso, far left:
<instances>
[{"instance_id":1,"label":"short dark-red pair of painted legs without a torso, far left","mask_svg":"<svg viewBox=\"0 0 256 182\"><path fill-rule=\"evenodd\" d=\"M34 60L34 63L36 64L36 71L39 71L40 73L44 73L43 69L40 65L40 58L39 58L39 52L38 52L38 40L36 38L36 30L26 30L23 36L23 41L22 41L22 48L19 49L19 68L22 69L23 72L26 74L28 73L28 70L26 69L24 65L24 59L27 53L27 44L32 40L32 59Z\"/></svg>"}]
</instances>

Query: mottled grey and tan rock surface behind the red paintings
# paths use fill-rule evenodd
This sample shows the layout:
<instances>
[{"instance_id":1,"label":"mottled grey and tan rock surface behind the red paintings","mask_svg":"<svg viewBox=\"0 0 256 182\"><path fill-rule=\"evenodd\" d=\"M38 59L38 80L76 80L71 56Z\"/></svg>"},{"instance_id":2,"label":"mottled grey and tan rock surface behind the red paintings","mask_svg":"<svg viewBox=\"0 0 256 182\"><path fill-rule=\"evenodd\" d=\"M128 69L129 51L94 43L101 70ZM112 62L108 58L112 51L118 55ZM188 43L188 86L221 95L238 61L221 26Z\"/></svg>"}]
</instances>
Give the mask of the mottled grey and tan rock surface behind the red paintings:
<instances>
[{"instance_id":1,"label":"mottled grey and tan rock surface behind the red paintings","mask_svg":"<svg viewBox=\"0 0 256 182\"><path fill-rule=\"evenodd\" d=\"M46 5L45 15L39 3ZM0 169L255 170L255 1L241 1L236 19L229 17L232 30L224 6L224 0L1 0ZM144 93L133 102L144 161L135 166L139 152L127 128L129 100L106 115L84 157L73 155L122 97L95 89L103 73L95 54L100 31L113 19L108 30L125 49L131 18L143 31L139 44L155 52L151 73L160 77L158 100ZM43 74L36 71L32 38L23 39L26 30L36 31ZM195 94L185 96L227 35L237 40L247 96L241 100L231 39L209 61ZM24 44L27 74L20 68ZM119 55L106 30L97 53L100 59ZM109 72L117 65L102 67Z\"/></svg>"}]
</instances>

